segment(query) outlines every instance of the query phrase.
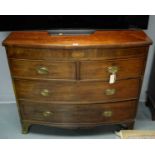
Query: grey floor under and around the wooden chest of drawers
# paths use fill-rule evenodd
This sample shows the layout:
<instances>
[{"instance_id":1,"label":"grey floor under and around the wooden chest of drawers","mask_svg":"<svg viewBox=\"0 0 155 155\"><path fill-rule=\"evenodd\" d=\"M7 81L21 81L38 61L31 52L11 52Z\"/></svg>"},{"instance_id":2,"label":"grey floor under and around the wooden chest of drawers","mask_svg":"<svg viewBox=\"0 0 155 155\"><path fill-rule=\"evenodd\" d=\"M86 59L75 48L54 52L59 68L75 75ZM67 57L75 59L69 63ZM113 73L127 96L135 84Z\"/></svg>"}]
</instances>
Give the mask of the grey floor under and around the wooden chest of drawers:
<instances>
[{"instance_id":1,"label":"grey floor under and around the wooden chest of drawers","mask_svg":"<svg viewBox=\"0 0 155 155\"><path fill-rule=\"evenodd\" d=\"M16 104L0 104L0 139L118 139L117 126L103 126L91 130L67 130L33 125L29 134L21 134ZM135 129L155 130L155 121L144 104L139 104Z\"/></svg>"}]
</instances>

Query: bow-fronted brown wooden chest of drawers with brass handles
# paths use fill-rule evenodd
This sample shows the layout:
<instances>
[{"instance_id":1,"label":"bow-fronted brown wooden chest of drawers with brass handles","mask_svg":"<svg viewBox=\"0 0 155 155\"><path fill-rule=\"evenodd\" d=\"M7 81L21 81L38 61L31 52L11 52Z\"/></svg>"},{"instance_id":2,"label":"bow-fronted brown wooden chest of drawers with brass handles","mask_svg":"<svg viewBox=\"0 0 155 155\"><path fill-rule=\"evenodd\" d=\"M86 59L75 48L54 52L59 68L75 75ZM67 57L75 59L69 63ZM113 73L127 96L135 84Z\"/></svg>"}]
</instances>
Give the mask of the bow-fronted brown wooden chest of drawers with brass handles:
<instances>
[{"instance_id":1,"label":"bow-fronted brown wooden chest of drawers with brass handles","mask_svg":"<svg viewBox=\"0 0 155 155\"><path fill-rule=\"evenodd\" d=\"M23 133L32 124L133 128L150 44L136 30L11 33L3 45Z\"/></svg>"}]
</instances>

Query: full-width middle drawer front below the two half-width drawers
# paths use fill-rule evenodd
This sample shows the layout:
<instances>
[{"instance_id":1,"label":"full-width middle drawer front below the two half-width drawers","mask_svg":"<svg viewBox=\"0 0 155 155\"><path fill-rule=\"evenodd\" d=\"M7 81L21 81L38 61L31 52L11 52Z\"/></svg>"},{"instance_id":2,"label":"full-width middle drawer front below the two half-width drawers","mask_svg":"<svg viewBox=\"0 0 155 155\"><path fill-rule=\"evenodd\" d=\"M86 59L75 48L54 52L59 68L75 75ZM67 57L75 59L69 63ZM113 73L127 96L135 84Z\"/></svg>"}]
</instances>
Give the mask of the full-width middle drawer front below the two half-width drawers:
<instances>
[{"instance_id":1,"label":"full-width middle drawer front below the two half-width drawers","mask_svg":"<svg viewBox=\"0 0 155 155\"><path fill-rule=\"evenodd\" d=\"M15 80L17 97L38 101L108 102L137 98L139 79L108 82Z\"/></svg>"}]
</instances>

